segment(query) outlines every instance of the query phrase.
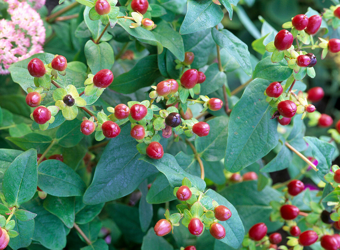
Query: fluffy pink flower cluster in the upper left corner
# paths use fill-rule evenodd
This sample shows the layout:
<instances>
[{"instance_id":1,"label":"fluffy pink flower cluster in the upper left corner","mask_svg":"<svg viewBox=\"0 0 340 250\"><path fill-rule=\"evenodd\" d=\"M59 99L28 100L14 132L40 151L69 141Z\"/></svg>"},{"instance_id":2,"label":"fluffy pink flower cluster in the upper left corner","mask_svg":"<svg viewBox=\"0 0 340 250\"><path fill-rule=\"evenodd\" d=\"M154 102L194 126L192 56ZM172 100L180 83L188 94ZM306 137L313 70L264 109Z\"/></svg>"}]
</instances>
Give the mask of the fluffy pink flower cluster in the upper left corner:
<instances>
[{"instance_id":1,"label":"fluffy pink flower cluster in the upper left corner","mask_svg":"<svg viewBox=\"0 0 340 250\"><path fill-rule=\"evenodd\" d=\"M43 52L45 28L40 15L26 2L4 0L11 20L0 20L0 74L11 64Z\"/></svg>"}]
</instances>

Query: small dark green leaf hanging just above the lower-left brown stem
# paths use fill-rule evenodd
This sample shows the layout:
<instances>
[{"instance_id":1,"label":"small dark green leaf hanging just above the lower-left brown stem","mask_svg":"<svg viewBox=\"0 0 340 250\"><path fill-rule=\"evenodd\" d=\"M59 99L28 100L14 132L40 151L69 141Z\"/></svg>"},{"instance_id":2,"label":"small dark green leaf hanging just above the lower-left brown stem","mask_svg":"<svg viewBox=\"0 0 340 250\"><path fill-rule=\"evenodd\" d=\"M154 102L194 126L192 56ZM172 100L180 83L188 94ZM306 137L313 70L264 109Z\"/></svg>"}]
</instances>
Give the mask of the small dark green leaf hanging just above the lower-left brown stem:
<instances>
[{"instance_id":1,"label":"small dark green leaf hanging just above the lower-left brown stem","mask_svg":"<svg viewBox=\"0 0 340 250\"><path fill-rule=\"evenodd\" d=\"M48 195L44 200L44 208L57 216L68 228L74 224L74 197L56 197Z\"/></svg>"}]
</instances>

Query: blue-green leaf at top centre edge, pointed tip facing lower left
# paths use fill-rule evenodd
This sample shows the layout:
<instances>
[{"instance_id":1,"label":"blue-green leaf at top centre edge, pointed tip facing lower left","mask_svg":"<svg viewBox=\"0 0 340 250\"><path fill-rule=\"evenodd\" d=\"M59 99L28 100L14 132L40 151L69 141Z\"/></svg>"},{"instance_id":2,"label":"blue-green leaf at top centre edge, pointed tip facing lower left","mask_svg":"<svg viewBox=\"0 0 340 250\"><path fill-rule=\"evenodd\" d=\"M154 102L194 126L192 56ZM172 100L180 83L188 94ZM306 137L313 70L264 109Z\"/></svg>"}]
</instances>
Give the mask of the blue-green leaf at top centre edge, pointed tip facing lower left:
<instances>
[{"instance_id":1,"label":"blue-green leaf at top centre edge, pointed tip facing lower left","mask_svg":"<svg viewBox=\"0 0 340 250\"><path fill-rule=\"evenodd\" d=\"M188 11L182 22L180 34L190 34L216 26L221 22L221 7L212 1L188 0Z\"/></svg>"}]
</instances>

